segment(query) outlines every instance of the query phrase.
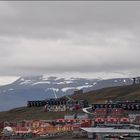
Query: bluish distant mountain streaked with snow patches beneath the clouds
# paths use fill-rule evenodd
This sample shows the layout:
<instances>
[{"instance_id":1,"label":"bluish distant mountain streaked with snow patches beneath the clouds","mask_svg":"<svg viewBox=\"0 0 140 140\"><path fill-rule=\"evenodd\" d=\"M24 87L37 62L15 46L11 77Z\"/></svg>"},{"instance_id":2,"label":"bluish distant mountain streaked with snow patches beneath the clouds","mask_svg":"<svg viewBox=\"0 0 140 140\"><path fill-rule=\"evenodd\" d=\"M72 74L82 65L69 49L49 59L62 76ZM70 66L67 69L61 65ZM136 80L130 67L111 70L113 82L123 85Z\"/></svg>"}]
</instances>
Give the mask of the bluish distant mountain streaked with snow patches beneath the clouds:
<instances>
[{"instance_id":1,"label":"bluish distant mountain streaked with snow patches beneath the clouds","mask_svg":"<svg viewBox=\"0 0 140 140\"><path fill-rule=\"evenodd\" d=\"M20 77L12 84L0 86L0 111L24 106L28 100L44 100L70 95L79 89L87 92L103 87L129 84L132 84L130 78L102 80L47 76Z\"/></svg>"}]
</instances>

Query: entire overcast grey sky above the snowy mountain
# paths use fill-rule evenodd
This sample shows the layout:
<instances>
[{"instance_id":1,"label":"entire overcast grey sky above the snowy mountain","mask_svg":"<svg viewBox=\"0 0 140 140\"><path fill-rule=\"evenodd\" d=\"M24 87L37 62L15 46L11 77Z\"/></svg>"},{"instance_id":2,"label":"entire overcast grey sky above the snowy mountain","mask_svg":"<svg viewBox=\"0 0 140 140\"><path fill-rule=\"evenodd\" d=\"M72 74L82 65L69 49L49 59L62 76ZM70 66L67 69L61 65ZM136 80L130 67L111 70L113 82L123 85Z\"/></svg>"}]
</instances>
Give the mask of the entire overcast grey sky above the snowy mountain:
<instances>
[{"instance_id":1,"label":"entire overcast grey sky above the snowy mountain","mask_svg":"<svg viewBox=\"0 0 140 140\"><path fill-rule=\"evenodd\" d=\"M0 81L140 74L140 2L0 1Z\"/></svg>"}]
</instances>

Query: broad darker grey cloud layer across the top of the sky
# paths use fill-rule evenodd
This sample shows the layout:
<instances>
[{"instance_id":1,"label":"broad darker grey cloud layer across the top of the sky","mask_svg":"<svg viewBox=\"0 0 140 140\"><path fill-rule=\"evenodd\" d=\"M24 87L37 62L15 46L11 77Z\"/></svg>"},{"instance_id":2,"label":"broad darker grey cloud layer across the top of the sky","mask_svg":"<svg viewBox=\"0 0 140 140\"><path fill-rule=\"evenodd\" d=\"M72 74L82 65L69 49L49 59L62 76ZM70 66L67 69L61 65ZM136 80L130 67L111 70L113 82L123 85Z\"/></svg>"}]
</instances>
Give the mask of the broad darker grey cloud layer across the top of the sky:
<instances>
[{"instance_id":1,"label":"broad darker grey cloud layer across the top of the sky","mask_svg":"<svg viewBox=\"0 0 140 140\"><path fill-rule=\"evenodd\" d=\"M9 2L15 14L1 17L1 33L23 37L59 38L67 32L136 28L138 2ZM132 10L131 10L132 9ZM135 27L136 26L136 27ZM131 29L130 29L131 30Z\"/></svg>"}]
</instances>

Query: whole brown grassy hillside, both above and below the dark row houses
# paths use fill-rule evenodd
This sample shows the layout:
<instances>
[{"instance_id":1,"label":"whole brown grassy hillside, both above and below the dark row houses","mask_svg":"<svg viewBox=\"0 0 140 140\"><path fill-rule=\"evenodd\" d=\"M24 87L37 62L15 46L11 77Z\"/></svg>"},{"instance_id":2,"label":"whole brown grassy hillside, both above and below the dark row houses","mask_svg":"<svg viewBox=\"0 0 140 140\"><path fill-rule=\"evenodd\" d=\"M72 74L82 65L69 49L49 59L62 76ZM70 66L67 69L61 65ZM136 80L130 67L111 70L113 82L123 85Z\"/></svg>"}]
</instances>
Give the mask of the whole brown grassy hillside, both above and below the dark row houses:
<instances>
[{"instance_id":1,"label":"whole brown grassy hillside, both above and below the dark row houses","mask_svg":"<svg viewBox=\"0 0 140 140\"><path fill-rule=\"evenodd\" d=\"M96 91L90 91L82 95L73 96L76 99L86 99L89 103L101 103L105 100L140 100L140 85L120 86L103 88ZM64 114L79 113L78 112L43 112L42 107L36 108L16 108L7 112L0 112L0 120L24 120L24 119L56 119L63 118Z\"/></svg>"}]
</instances>

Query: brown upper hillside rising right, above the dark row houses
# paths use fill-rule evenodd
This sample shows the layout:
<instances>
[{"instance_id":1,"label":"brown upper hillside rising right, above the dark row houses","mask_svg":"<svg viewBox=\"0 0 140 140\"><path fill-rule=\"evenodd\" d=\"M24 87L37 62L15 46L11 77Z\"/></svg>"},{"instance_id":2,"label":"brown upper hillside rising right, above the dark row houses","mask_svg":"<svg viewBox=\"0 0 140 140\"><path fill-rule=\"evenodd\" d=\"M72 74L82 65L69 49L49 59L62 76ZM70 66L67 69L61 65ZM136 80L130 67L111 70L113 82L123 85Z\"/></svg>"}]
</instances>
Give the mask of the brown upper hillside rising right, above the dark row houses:
<instances>
[{"instance_id":1,"label":"brown upper hillside rising right, above the dark row houses","mask_svg":"<svg viewBox=\"0 0 140 140\"><path fill-rule=\"evenodd\" d=\"M140 85L103 88L73 98L86 99L89 103L101 103L105 100L140 100Z\"/></svg>"}]
</instances>

